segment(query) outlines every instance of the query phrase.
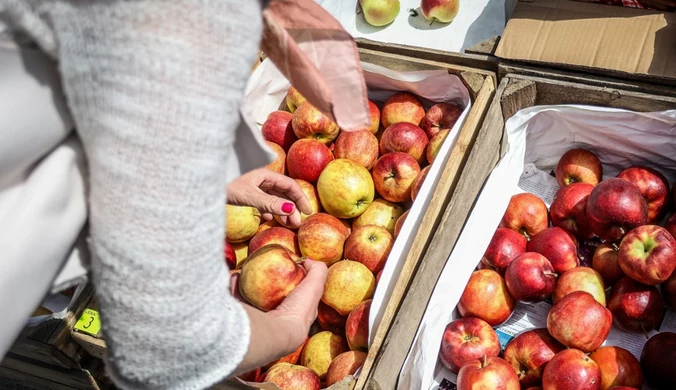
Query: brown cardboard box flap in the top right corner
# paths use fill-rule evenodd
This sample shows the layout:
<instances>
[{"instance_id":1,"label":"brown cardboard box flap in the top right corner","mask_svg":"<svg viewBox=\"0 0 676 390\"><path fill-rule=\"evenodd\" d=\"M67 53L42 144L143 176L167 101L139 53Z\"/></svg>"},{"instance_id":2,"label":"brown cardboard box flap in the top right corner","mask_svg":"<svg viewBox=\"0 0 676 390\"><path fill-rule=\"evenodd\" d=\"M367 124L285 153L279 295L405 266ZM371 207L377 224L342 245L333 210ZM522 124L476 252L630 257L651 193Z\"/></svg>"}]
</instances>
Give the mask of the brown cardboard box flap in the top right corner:
<instances>
[{"instance_id":1,"label":"brown cardboard box flap in the top right corner","mask_svg":"<svg viewBox=\"0 0 676 390\"><path fill-rule=\"evenodd\" d=\"M676 13L569 0L520 2L495 55L676 79Z\"/></svg>"}]
</instances>

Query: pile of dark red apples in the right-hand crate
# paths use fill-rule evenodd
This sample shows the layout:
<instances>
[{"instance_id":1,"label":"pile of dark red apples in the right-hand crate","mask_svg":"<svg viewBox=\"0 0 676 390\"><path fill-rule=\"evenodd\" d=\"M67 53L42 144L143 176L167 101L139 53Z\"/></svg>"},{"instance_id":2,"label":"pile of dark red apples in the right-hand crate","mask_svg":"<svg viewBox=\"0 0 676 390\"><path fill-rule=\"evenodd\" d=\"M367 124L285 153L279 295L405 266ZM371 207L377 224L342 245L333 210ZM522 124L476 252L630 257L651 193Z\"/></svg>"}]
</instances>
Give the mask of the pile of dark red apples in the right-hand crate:
<instances>
[{"instance_id":1,"label":"pile of dark red apples in the right-hand crate","mask_svg":"<svg viewBox=\"0 0 676 390\"><path fill-rule=\"evenodd\" d=\"M644 379L676 389L676 333L650 338L640 361L622 347L602 347L613 323L647 337L665 305L676 307L676 214L657 225L676 204L676 185L670 194L660 172L640 166L602 180L601 161L583 149L566 152L555 174L560 189L550 210L529 193L511 198L460 298L462 318L444 331L440 361L458 374L459 390L479 383L626 390ZM583 245L596 246L591 267L580 264ZM517 301L550 297L547 328L521 333L501 351L492 327Z\"/></svg>"}]
</instances>

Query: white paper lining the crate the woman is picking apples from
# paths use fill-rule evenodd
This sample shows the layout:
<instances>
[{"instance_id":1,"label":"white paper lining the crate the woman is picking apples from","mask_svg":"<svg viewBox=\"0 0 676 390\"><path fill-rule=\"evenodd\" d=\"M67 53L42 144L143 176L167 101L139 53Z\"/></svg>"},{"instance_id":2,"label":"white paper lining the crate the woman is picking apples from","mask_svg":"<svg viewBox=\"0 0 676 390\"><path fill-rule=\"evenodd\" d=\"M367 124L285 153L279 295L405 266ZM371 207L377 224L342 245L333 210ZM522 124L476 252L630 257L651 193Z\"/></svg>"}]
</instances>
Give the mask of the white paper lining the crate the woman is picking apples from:
<instances>
[{"instance_id":1,"label":"white paper lining the crate the woman is picking apples from","mask_svg":"<svg viewBox=\"0 0 676 390\"><path fill-rule=\"evenodd\" d=\"M408 253L413 242L414 232L420 226L422 211L427 208L432 199L432 189L436 187L439 181L441 167L448 160L459 130L471 108L471 102L469 92L462 81L457 76L443 70L394 72L368 63L362 63L362 66L366 84L369 87L369 99L378 105L382 105L388 97L397 91L410 91L423 98L422 101L426 108L429 108L434 102L453 102L465 107L446 141L442 144L382 271L369 317L369 333L372 338L374 335L373 329L376 329L380 324L387 298L394 289L396 277L399 275L405 260L405 254ZM274 64L269 60L263 61L249 79L245 91L243 111L259 125L262 125L270 112L285 106L284 97L288 88L289 82Z\"/></svg>"}]
</instances>

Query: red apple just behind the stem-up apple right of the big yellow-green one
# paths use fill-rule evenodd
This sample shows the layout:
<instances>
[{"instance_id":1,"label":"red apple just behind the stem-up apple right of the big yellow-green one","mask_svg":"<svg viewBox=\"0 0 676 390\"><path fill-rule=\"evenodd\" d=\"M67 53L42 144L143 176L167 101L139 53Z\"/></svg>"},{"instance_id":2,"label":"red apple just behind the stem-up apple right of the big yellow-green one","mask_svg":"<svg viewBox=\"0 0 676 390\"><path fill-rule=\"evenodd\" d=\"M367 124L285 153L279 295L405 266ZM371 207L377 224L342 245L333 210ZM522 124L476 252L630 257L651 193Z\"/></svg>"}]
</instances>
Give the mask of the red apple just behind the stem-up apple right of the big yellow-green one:
<instances>
[{"instance_id":1,"label":"red apple just behind the stem-up apple right of the big yellow-green one","mask_svg":"<svg viewBox=\"0 0 676 390\"><path fill-rule=\"evenodd\" d=\"M418 164L425 161L425 148L429 139L422 129L408 122L388 126L380 138L380 154L404 152L415 158Z\"/></svg>"}]
</instances>

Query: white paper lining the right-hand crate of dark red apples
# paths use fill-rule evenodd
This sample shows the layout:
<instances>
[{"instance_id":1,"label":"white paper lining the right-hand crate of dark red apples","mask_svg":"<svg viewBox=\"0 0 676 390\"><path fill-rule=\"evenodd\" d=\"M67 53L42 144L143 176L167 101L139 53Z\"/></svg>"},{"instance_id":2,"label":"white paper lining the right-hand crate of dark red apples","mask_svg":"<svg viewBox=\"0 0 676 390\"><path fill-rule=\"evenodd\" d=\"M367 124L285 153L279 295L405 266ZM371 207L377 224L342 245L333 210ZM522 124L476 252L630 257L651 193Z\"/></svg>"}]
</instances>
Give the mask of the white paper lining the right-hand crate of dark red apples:
<instances>
[{"instance_id":1,"label":"white paper lining the right-hand crate of dark red apples","mask_svg":"<svg viewBox=\"0 0 676 390\"><path fill-rule=\"evenodd\" d=\"M670 183L676 181L676 111L635 113L590 106L538 106L516 113L505 124L505 133L508 150L486 181L437 282L400 373L402 389L445 388L446 384L439 386L444 376L437 361L439 346L446 324L457 316L455 307L472 271L513 194L528 190L551 203L556 181L549 173L563 153L575 147L593 151L603 162L605 177L631 165L647 165L658 168ZM665 323L676 322L674 317L676 314L669 313ZM613 333L609 343L615 340ZM451 378L447 379L450 382Z\"/></svg>"}]
</instances>

